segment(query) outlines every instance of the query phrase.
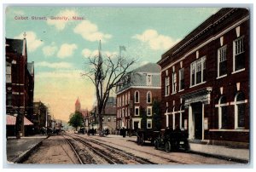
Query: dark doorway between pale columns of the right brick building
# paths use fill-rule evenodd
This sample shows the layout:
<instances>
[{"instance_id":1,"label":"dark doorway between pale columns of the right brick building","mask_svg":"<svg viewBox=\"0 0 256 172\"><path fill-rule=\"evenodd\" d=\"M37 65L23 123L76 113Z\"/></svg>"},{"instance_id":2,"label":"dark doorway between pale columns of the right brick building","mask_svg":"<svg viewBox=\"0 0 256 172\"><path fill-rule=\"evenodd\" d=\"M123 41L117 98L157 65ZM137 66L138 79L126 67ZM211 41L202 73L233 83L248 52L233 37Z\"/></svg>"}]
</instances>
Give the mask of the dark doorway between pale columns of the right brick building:
<instances>
[{"instance_id":1,"label":"dark doorway between pale columns of the right brick building","mask_svg":"<svg viewBox=\"0 0 256 172\"><path fill-rule=\"evenodd\" d=\"M195 129L195 140L202 139L202 104L196 102L192 104L193 118L194 118L194 129Z\"/></svg>"}]
</instances>

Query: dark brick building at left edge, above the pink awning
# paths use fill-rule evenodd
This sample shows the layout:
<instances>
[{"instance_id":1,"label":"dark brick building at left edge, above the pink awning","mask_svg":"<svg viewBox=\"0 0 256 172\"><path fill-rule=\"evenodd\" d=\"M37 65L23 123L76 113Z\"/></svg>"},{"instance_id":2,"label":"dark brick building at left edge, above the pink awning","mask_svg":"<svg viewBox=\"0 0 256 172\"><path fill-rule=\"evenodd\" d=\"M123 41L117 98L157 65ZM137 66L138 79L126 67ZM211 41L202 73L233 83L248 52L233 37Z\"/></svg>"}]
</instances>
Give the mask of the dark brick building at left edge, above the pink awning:
<instances>
[{"instance_id":1,"label":"dark brick building at left edge, above the pink awning","mask_svg":"<svg viewBox=\"0 0 256 172\"><path fill-rule=\"evenodd\" d=\"M25 135L24 117L31 120L34 66L27 63L26 38L5 40L6 114L17 117L16 135Z\"/></svg>"}]
</instances>

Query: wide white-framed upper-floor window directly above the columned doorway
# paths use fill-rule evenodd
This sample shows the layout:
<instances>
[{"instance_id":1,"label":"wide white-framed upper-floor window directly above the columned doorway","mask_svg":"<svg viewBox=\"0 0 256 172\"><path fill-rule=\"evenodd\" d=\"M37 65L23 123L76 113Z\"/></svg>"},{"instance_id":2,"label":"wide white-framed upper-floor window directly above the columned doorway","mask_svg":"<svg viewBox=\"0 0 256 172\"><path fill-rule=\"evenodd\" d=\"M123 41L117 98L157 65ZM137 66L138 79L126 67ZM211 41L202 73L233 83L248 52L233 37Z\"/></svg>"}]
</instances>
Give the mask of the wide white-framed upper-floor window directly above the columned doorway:
<instances>
[{"instance_id":1,"label":"wide white-framed upper-floor window directly above the columned doorway","mask_svg":"<svg viewBox=\"0 0 256 172\"><path fill-rule=\"evenodd\" d=\"M190 64L190 86L206 81L206 57Z\"/></svg>"}]
</instances>

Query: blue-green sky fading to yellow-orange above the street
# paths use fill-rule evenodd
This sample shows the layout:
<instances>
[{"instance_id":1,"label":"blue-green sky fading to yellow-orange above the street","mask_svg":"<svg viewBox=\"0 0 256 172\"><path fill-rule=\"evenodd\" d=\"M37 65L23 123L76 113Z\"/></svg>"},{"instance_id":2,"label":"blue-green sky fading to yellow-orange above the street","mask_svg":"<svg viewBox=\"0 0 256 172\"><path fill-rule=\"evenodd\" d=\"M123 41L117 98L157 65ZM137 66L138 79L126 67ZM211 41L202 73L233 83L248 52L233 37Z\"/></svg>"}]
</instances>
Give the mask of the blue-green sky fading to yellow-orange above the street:
<instances>
[{"instance_id":1,"label":"blue-green sky fading to yellow-orange above the street","mask_svg":"<svg viewBox=\"0 0 256 172\"><path fill-rule=\"evenodd\" d=\"M161 54L218 10L7 6L4 34L22 39L26 32L28 62L35 65L34 101L49 106L54 118L68 121L78 97L83 109L90 110L96 101L93 84L81 74L89 67L85 65L88 57L98 53L99 40L103 55L119 54L119 46L125 46L122 54L136 58L135 67L156 63Z\"/></svg>"}]
</instances>

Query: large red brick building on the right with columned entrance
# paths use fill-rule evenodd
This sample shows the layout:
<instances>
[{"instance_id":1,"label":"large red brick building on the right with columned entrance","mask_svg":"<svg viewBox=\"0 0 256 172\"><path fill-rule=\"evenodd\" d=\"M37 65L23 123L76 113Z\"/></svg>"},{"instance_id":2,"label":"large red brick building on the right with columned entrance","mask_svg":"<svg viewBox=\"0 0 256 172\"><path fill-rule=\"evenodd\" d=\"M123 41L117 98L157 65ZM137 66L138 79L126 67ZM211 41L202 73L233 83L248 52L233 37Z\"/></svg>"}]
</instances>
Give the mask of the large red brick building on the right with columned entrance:
<instances>
[{"instance_id":1,"label":"large red brick building on the right with columned entrance","mask_svg":"<svg viewBox=\"0 0 256 172\"><path fill-rule=\"evenodd\" d=\"M220 9L162 54L163 128L189 140L249 143L249 11Z\"/></svg>"}]
</instances>

